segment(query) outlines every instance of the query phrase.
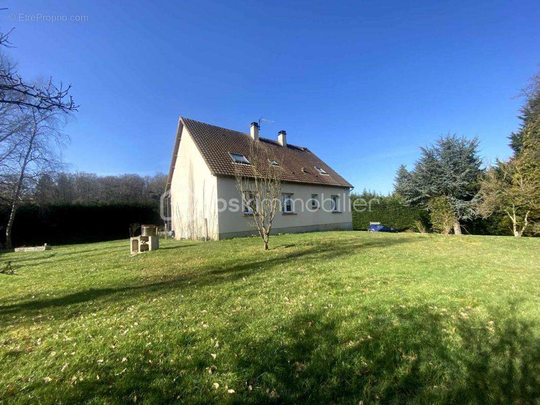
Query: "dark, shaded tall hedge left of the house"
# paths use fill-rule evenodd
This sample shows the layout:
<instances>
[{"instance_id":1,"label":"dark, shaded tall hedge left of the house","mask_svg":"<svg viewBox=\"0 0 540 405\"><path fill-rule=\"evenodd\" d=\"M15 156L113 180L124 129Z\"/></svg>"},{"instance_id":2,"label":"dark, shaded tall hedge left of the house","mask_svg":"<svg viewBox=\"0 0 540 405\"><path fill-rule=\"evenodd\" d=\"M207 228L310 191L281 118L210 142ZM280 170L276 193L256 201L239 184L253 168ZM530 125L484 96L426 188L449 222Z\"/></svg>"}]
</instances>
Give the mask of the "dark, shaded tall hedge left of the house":
<instances>
[{"instance_id":1,"label":"dark, shaded tall hedge left of the house","mask_svg":"<svg viewBox=\"0 0 540 405\"><path fill-rule=\"evenodd\" d=\"M9 209L0 210L1 241ZM131 224L161 225L155 206L141 204L35 205L18 208L12 231L14 246L64 245L129 238Z\"/></svg>"}]
</instances>

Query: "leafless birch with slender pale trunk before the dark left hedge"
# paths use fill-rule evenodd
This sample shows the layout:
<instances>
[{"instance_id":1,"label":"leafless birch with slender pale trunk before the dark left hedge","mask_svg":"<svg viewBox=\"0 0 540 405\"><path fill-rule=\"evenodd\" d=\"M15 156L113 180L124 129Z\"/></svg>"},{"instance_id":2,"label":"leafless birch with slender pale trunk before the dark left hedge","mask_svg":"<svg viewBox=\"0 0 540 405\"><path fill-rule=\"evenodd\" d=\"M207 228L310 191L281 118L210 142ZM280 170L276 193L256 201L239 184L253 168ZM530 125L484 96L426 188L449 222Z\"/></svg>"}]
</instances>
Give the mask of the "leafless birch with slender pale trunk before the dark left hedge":
<instances>
[{"instance_id":1,"label":"leafless birch with slender pale trunk before the dark left hedge","mask_svg":"<svg viewBox=\"0 0 540 405\"><path fill-rule=\"evenodd\" d=\"M25 189L36 184L44 174L54 174L63 168L61 151L69 139L59 131L63 123L58 113L31 110L25 118L27 125L18 133L11 164L6 172L0 173L6 183L11 180L11 212L5 231L8 249L12 248L13 221Z\"/></svg>"}]
</instances>

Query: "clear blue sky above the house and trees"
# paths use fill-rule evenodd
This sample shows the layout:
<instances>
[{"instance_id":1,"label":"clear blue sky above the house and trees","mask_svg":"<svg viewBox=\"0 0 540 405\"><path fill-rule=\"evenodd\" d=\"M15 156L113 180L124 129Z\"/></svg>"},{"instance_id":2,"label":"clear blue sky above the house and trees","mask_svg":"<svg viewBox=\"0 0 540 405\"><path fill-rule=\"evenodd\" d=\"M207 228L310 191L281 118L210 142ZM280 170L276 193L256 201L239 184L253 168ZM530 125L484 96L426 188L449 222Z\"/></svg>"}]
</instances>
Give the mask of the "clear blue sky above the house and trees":
<instances>
[{"instance_id":1,"label":"clear blue sky above the house and trees","mask_svg":"<svg viewBox=\"0 0 540 405\"><path fill-rule=\"evenodd\" d=\"M286 130L357 190L388 192L442 133L509 156L512 97L540 63L537 1L3 6L23 77L73 85L65 159L99 174L166 172L179 116L244 132L264 117L261 136Z\"/></svg>"}]
</instances>

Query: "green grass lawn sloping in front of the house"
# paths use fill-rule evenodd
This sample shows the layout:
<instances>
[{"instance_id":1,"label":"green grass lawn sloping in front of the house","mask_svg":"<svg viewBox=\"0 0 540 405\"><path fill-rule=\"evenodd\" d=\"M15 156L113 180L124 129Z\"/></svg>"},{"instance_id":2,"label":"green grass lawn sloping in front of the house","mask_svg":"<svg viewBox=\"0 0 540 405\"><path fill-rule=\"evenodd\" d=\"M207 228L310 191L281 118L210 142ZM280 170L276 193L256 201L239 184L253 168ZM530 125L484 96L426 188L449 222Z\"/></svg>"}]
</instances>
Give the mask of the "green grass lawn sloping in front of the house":
<instances>
[{"instance_id":1,"label":"green grass lawn sloping in front of the house","mask_svg":"<svg viewBox=\"0 0 540 405\"><path fill-rule=\"evenodd\" d=\"M540 403L539 239L160 242L4 253L0 402Z\"/></svg>"}]
</instances>

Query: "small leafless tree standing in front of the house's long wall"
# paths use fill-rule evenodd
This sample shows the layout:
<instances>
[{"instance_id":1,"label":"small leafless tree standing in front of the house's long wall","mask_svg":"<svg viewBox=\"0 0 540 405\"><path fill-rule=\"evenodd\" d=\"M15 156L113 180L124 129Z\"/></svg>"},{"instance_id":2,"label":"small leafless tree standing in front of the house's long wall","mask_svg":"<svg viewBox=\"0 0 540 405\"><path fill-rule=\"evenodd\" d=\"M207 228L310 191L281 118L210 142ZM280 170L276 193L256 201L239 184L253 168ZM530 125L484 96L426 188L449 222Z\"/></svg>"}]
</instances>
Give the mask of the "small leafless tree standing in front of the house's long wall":
<instances>
[{"instance_id":1,"label":"small leafless tree standing in front of the house's long wall","mask_svg":"<svg viewBox=\"0 0 540 405\"><path fill-rule=\"evenodd\" d=\"M268 250L275 213L280 207L280 160L259 140L251 141L249 164L235 165L237 189L242 198L242 212L248 223L259 232Z\"/></svg>"}]
</instances>

